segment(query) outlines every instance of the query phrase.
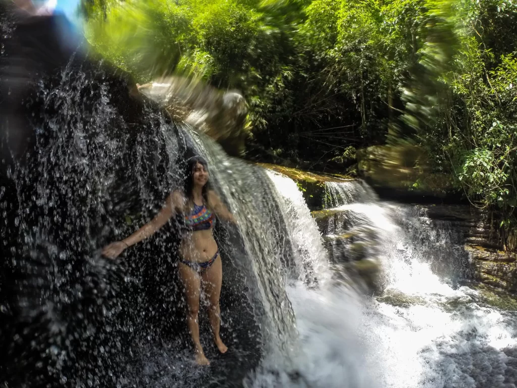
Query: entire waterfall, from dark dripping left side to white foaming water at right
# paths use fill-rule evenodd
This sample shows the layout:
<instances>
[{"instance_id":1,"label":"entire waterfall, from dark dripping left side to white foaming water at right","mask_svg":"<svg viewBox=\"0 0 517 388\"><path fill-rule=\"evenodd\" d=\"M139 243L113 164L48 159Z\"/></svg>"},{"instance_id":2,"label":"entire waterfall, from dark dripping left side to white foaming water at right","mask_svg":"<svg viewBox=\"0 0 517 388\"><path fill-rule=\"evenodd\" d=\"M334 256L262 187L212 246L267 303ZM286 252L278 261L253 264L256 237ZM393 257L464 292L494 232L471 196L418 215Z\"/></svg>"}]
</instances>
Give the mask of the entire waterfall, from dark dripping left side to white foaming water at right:
<instances>
[{"instance_id":1,"label":"entire waterfall, from dark dripping left side to white foaming water at right","mask_svg":"<svg viewBox=\"0 0 517 388\"><path fill-rule=\"evenodd\" d=\"M311 217L290 178L130 96L125 74L45 46L32 28L52 18L0 16L3 385L515 386L517 303L468 281L451 225L358 181L328 183ZM230 351L207 345L210 368L192 362L176 222L100 256L154 217L191 154L239 220L215 230ZM205 345L205 314L200 326Z\"/></svg>"}]
</instances>

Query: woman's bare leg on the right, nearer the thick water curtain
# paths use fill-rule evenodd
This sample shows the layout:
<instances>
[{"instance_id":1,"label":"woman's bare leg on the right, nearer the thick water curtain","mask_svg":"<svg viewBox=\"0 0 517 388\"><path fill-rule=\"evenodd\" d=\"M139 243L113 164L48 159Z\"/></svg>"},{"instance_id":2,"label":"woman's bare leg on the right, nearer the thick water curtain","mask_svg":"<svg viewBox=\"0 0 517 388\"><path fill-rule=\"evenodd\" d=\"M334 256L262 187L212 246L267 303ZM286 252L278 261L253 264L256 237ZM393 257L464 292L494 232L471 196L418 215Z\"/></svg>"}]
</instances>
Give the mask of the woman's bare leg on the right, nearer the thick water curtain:
<instances>
[{"instance_id":1,"label":"woman's bare leg on the right, nearer the thick water curtain","mask_svg":"<svg viewBox=\"0 0 517 388\"><path fill-rule=\"evenodd\" d=\"M219 296L221 295L221 283L223 280L221 257L217 257L210 268L202 273L201 278L203 279L203 287L210 303L208 308L208 318L210 319L210 325L214 332L214 341L216 342L219 351L221 353L226 353L228 348L223 344L223 341L219 336L219 326L221 322Z\"/></svg>"}]
</instances>

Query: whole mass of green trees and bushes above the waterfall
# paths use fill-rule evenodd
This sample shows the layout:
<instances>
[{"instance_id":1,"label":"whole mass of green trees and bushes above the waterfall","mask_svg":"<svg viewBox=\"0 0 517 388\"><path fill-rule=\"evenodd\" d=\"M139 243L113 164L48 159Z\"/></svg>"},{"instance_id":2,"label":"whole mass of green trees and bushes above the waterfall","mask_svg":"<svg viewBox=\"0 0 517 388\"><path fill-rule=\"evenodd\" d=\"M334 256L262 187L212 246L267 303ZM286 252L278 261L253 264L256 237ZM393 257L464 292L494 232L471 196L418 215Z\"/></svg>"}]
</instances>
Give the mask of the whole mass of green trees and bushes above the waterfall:
<instances>
[{"instance_id":1,"label":"whole mass of green trees and bushes above the waterfall","mask_svg":"<svg viewBox=\"0 0 517 388\"><path fill-rule=\"evenodd\" d=\"M83 0L87 38L139 82L239 89L248 157L354 169L400 142L515 222L517 0Z\"/></svg>"}]
</instances>

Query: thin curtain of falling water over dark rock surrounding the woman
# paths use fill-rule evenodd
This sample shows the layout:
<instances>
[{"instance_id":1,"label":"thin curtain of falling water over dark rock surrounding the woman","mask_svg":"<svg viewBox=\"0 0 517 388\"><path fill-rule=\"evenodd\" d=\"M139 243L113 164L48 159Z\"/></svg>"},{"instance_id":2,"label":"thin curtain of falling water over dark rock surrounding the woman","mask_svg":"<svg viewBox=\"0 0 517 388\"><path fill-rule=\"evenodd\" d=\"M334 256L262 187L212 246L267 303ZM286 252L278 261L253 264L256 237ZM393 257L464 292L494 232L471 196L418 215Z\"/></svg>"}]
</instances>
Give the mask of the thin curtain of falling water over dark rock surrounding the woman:
<instances>
[{"instance_id":1,"label":"thin curtain of falling water over dark rock surrounding the woman","mask_svg":"<svg viewBox=\"0 0 517 388\"><path fill-rule=\"evenodd\" d=\"M62 109L43 116L35 128L34 160L8 167L13 190L8 186L6 192L16 194L17 208L7 226L11 236L19 235L10 270L27 274L10 289L19 290L10 296L17 309L12 328L18 319L27 322L34 352L43 354L34 364L16 353L13 360L26 372L45 366L52 370L49 381L78 386L238 383L263 354L276 354L279 365L290 368L297 333L285 275L295 252L266 172L229 158L214 141L168 122L152 107L140 107L142 121L132 132L109 86L89 77L73 69L56 85L41 84L44 108ZM92 104L87 118L74 102L85 91ZM102 245L147 222L178 187L185 150L206 157L212 182L240 221L237 227L219 222L216 229L224 273L221 330L231 348L224 359L216 358L217 370L191 361L175 277L175 222L128 249L120 262L99 256ZM205 342L208 327L201 320ZM19 351L24 348L20 344ZM206 353L216 357L209 346ZM95 363L88 354L95 354Z\"/></svg>"}]
</instances>

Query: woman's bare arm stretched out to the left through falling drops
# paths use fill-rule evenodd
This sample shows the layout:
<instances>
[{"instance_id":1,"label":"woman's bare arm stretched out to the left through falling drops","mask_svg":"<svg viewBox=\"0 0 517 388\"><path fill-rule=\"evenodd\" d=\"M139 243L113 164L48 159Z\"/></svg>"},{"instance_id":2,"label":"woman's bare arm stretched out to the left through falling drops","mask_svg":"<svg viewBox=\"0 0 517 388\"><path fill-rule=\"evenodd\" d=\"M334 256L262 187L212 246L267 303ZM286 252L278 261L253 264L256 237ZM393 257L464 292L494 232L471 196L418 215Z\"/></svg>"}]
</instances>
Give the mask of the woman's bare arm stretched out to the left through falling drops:
<instances>
[{"instance_id":1,"label":"woman's bare arm stretched out to the left through falling drops","mask_svg":"<svg viewBox=\"0 0 517 388\"><path fill-rule=\"evenodd\" d=\"M160 212L147 222L142 228L131 234L130 236L124 238L124 240L117 241L111 243L110 245L104 247L102 249L102 255L114 259L120 253L122 253L126 248L129 248L131 245L141 242L145 240L145 238L156 233L165 222L167 222L178 210L182 210L185 204L185 199L183 195L179 191L173 191L169 197L165 200L165 205L161 208Z\"/></svg>"}]
</instances>

